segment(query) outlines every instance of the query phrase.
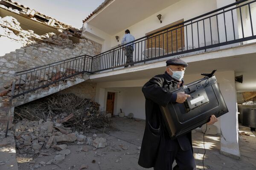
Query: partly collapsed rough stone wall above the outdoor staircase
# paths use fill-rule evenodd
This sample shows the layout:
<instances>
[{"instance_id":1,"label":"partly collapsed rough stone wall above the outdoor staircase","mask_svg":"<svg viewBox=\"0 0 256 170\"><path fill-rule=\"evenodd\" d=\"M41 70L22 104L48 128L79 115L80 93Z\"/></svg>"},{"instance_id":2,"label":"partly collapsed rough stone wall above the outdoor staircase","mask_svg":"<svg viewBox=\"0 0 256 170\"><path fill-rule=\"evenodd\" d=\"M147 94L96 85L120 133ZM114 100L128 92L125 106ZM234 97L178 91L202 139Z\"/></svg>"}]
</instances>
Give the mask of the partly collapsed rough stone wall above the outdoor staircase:
<instances>
[{"instance_id":1,"label":"partly collapsed rough stone wall above the outdoor staircase","mask_svg":"<svg viewBox=\"0 0 256 170\"><path fill-rule=\"evenodd\" d=\"M101 52L101 45L91 40L80 39L79 43L73 43L68 31L39 36L32 30L23 30L20 23L9 16L0 17L0 24L4 25L0 26L0 87L12 81L17 71ZM3 54L3 51L8 53Z\"/></svg>"}]
</instances>

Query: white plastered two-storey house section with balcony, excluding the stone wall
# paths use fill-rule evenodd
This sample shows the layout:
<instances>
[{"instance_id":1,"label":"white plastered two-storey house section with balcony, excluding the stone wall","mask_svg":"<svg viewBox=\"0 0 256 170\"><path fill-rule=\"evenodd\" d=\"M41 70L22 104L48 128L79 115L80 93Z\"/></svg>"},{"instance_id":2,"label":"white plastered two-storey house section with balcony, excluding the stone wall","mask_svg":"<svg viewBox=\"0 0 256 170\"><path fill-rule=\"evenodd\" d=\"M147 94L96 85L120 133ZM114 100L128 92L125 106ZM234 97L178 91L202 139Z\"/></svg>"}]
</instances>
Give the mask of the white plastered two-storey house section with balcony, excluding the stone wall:
<instances>
[{"instance_id":1,"label":"white plastered two-storey house section with balcony, excluding the stone wall","mask_svg":"<svg viewBox=\"0 0 256 170\"><path fill-rule=\"evenodd\" d=\"M114 115L122 109L126 116L133 113L145 119L141 88L165 71L167 59L181 57L188 62L186 83L216 69L229 109L215 124L221 153L239 159L236 92L256 90L255 14L253 0L106 0L84 20L82 30L82 36L102 44L102 54L95 56L92 65L96 74L88 80L97 83L96 102ZM135 66L121 69L125 52L120 40L126 29L136 39ZM243 83L235 82L239 75Z\"/></svg>"}]
</instances>

